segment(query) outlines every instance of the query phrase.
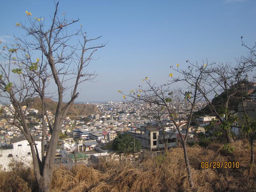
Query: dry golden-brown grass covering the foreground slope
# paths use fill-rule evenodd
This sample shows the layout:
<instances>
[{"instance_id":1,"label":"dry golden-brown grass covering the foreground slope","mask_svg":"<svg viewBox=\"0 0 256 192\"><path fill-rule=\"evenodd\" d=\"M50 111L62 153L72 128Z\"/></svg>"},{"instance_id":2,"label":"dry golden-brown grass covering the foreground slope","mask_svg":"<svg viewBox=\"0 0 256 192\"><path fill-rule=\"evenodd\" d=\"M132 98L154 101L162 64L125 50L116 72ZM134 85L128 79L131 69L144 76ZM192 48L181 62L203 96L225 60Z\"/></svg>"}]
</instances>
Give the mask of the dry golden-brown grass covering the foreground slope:
<instances>
[{"instance_id":1,"label":"dry golden-brown grass covering the foreground slope","mask_svg":"<svg viewBox=\"0 0 256 192\"><path fill-rule=\"evenodd\" d=\"M253 191L256 189L256 166L250 167L247 141L233 144L235 152L225 154L222 146L211 144L208 149L198 145L189 147L196 191ZM71 170L54 170L52 191L190 191L182 148L173 148L166 156L151 155L135 166L131 162L101 159L91 167L78 164ZM239 161L239 169L201 169L202 161ZM25 172L24 172L25 174ZM30 171L30 177L33 173ZM33 191L25 175L2 172L1 191ZM28 178L28 177L26 177ZM12 190L11 190L12 189Z\"/></svg>"}]
</instances>

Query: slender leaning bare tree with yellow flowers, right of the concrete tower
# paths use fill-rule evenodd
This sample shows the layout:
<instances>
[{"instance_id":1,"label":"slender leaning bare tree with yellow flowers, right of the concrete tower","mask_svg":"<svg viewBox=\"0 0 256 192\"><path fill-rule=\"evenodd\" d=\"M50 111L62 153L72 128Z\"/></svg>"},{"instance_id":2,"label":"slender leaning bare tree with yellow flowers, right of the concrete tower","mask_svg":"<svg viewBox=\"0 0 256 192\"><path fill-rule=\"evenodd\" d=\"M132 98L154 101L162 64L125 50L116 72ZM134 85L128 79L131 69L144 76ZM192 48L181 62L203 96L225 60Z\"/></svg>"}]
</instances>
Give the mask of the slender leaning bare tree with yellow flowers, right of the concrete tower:
<instances>
[{"instance_id":1,"label":"slender leaning bare tree with yellow flowers, right of the concrete tower","mask_svg":"<svg viewBox=\"0 0 256 192\"><path fill-rule=\"evenodd\" d=\"M179 69L178 64L176 67L177 68L174 69L171 66L171 68L177 71L177 77L173 77L173 73L170 73L169 76L171 80L166 84L156 85L156 83L151 83L148 77L146 77L143 79L143 81L147 84L146 88L139 85L139 88L136 90L131 90L130 94L123 94L121 90L119 92L123 94L124 98L131 98L132 102L143 101L149 105L153 104L167 110L169 118L174 123L174 126L181 138L189 186L190 188L193 188L194 181L188 158L187 139L196 101L200 101L203 97L200 94L198 87L201 86L201 81L206 78L206 68L200 66L199 64L195 64L191 67L189 66L186 70ZM183 88L180 87L181 83L184 85ZM175 86L178 87L174 89ZM184 137L180 130L179 124L176 122L183 104L186 104L189 107L188 123L186 126L187 132Z\"/></svg>"}]
</instances>

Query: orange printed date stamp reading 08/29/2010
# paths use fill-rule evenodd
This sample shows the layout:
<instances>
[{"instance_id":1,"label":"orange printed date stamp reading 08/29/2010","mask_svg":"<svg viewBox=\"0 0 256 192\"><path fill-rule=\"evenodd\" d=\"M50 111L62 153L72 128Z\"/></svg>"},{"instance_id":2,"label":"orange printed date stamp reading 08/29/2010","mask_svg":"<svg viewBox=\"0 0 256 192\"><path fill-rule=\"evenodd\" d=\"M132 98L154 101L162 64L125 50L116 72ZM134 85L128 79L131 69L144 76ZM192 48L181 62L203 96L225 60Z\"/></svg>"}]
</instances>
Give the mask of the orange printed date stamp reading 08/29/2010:
<instances>
[{"instance_id":1,"label":"orange printed date stamp reading 08/29/2010","mask_svg":"<svg viewBox=\"0 0 256 192\"><path fill-rule=\"evenodd\" d=\"M239 168L239 162L201 162L201 168L216 168L216 169L219 169L219 168L235 168L235 169L238 169Z\"/></svg>"}]
</instances>

